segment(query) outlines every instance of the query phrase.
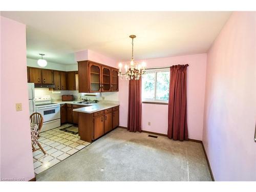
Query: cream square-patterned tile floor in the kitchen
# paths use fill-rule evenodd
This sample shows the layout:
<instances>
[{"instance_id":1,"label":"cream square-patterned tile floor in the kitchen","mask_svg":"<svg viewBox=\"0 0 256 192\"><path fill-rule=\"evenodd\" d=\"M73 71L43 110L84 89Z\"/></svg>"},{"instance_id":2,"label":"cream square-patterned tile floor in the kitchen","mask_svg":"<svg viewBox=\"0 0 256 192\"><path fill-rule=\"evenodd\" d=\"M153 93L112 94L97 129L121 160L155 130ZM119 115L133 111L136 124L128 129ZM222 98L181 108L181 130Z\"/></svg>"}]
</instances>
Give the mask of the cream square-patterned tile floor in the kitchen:
<instances>
[{"instance_id":1,"label":"cream square-patterned tile floor in the kitchen","mask_svg":"<svg viewBox=\"0 0 256 192\"><path fill-rule=\"evenodd\" d=\"M46 151L46 155L41 150L33 152L35 175L63 161L90 144L89 142L80 140L78 134L74 135L60 130L70 125L64 124L39 134L38 141ZM35 147L39 148L37 145Z\"/></svg>"}]
</instances>

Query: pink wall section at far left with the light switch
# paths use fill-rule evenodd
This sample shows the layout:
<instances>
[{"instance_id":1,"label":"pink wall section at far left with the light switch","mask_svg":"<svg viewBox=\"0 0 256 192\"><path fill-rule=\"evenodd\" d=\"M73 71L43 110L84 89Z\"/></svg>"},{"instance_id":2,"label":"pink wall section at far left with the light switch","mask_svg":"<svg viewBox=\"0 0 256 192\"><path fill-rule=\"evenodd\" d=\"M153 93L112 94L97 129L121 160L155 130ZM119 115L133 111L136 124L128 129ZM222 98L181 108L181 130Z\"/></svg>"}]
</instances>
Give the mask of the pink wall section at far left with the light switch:
<instances>
[{"instance_id":1,"label":"pink wall section at far left with the light switch","mask_svg":"<svg viewBox=\"0 0 256 192\"><path fill-rule=\"evenodd\" d=\"M34 177L34 167L27 91L26 26L3 16L0 18L1 178L30 180ZM23 111L16 112L15 103L22 103Z\"/></svg>"}]
</instances>

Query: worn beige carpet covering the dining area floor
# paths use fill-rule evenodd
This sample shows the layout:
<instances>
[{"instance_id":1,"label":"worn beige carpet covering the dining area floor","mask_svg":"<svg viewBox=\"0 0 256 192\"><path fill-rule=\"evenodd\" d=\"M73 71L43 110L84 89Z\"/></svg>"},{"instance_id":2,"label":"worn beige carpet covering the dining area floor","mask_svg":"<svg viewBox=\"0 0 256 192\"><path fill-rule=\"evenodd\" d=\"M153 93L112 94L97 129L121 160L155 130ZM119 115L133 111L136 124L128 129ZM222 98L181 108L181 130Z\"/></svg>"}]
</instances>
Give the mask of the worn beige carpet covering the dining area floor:
<instances>
[{"instance_id":1,"label":"worn beige carpet covering the dining area floor","mask_svg":"<svg viewBox=\"0 0 256 192\"><path fill-rule=\"evenodd\" d=\"M36 176L37 181L211 181L200 143L118 128Z\"/></svg>"}]
</instances>

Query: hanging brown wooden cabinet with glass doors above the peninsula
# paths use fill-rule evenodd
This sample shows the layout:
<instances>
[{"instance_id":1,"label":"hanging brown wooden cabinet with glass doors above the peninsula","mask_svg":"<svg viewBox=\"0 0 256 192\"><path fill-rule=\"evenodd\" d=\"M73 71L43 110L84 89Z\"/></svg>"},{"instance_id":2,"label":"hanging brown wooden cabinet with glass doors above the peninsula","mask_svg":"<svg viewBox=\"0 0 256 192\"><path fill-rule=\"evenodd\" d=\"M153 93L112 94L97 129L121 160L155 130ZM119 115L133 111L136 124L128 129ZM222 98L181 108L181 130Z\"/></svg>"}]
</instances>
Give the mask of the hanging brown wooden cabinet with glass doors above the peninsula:
<instances>
[{"instance_id":1,"label":"hanging brown wooden cabinet with glass doors above the peninsula","mask_svg":"<svg viewBox=\"0 0 256 192\"><path fill-rule=\"evenodd\" d=\"M78 61L78 90L80 93L118 91L117 75L116 68L88 60Z\"/></svg>"}]
</instances>

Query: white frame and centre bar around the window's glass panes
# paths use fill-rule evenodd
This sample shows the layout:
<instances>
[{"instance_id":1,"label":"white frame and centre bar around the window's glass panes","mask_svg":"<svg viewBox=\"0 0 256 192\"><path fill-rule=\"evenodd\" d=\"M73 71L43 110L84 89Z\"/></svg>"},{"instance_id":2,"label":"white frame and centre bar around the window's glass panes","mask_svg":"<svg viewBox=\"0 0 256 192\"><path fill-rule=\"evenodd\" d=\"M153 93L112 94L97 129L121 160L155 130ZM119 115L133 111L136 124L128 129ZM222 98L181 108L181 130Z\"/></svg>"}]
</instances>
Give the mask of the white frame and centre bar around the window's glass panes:
<instances>
[{"instance_id":1,"label":"white frame and centre bar around the window's glass panes","mask_svg":"<svg viewBox=\"0 0 256 192\"><path fill-rule=\"evenodd\" d=\"M142 103L168 104L169 99L167 99L167 100L156 99L156 96L157 96L157 73L158 72L169 72L170 73L170 68L169 67L163 67L163 68L148 68L148 69L145 69L145 74L146 73L155 73L155 95L154 95L155 99L143 98L142 94L141 94ZM143 89L143 84L142 84L142 89Z\"/></svg>"}]
</instances>

